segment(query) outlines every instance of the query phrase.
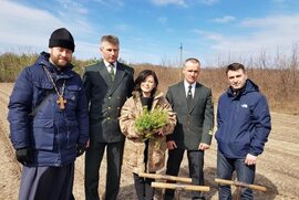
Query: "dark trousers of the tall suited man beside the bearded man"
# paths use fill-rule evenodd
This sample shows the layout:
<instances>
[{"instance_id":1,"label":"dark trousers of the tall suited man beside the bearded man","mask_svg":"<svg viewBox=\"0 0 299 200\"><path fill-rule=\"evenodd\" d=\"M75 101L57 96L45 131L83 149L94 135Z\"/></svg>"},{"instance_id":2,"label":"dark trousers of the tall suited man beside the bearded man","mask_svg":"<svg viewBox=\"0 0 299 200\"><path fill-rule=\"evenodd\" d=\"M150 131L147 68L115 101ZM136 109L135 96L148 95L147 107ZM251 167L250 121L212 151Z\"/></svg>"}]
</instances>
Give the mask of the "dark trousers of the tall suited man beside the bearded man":
<instances>
[{"instance_id":1,"label":"dark trousers of the tall suited man beside the bearded man","mask_svg":"<svg viewBox=\"0 0 299 200\"><path fill-rule=\"evenodd\" d=\"M124 141L96 143L85 154L85 199L99 200L99 170L106 148L107 172L105 200L115 200L120 190Z\"/></svg>"}]
</instances>

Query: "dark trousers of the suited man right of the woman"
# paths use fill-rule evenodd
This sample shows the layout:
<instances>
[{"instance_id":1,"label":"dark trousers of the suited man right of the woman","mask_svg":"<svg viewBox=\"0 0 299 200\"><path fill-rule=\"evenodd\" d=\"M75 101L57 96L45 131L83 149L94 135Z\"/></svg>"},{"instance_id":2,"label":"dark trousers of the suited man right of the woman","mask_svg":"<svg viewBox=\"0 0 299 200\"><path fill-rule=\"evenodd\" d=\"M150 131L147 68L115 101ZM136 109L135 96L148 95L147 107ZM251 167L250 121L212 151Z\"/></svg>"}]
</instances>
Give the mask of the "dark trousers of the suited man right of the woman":
<instances>
[{"instance_id":1,"label":"dark trousers of the suited man right of the woman","mask_svg":"<svg viewBox=\"0 0 299 200\"><path fill-rule=\"evenodd\" d=\"M166 175L177 176L179 166L184 157L185 149L175 148L168 150L168 159L166 166ZM187 150L189 177L193 185L204 186L204 151L203 150ZM193 199L204 199L203 193L198 191L193 192ZM165 190L165 200L174 199L174 190Z\"/></svg>"}]
</instances>

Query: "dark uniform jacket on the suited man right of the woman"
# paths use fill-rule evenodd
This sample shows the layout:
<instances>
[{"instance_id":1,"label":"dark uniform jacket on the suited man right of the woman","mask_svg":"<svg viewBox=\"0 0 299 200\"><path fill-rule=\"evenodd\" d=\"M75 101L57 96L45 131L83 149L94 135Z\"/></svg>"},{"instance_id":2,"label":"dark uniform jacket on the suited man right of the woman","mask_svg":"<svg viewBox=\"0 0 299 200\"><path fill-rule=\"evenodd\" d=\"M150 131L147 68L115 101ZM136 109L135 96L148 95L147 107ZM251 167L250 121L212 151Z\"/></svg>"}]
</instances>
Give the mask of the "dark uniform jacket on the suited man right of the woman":
<instances>
[{"instance_id":1,"label":"dark uniform jacket on the suited man right of the woman","mask_svg":"<svg viewBox=\"0 0 299 200\"><path fill-rule=\"evenodd\" d=\"M175 130L167 140L175 140L178 148L187 150L197 150L199 143L210 145L214 128L212 90L196 83L189 110L184 81L171 86L166 97L177 116Z\"/></svg>"}]
</instances>

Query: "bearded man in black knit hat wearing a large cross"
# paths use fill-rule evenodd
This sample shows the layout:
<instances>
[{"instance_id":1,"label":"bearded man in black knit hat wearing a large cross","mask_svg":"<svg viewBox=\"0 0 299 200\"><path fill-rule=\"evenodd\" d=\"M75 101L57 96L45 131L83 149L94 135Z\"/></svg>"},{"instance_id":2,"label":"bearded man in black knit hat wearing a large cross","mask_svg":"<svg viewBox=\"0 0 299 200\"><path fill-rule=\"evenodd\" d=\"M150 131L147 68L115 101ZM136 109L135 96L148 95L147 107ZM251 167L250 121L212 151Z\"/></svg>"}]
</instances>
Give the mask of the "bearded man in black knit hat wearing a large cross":
<instances>
[{"instance_id":1,"label":"bearded man in black knit hat wearing a large cross","mask_svg":"<svg viewBox=\"0 0 299 200\"><path fill-rule=\"evenodd\" d=\"M72 34L55 30L49 53L19 75L8 120L16 157L23 165L20 200L73 199L75 158L89 139L89 107L79 74L70 63Z\"/></svg>"}]
</instances>

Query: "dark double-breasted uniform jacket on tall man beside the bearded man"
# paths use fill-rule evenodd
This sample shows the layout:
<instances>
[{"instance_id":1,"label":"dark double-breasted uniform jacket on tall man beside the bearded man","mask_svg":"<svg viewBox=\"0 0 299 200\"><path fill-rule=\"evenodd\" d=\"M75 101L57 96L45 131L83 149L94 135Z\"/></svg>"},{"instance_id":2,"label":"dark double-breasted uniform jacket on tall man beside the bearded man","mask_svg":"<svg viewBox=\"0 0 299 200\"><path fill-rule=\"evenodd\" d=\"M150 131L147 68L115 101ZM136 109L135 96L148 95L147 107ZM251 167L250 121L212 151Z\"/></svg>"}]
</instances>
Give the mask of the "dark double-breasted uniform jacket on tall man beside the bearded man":
<instances>
[{"instance_id":1,"label":"dark double-breasted uniform jacket on tall man beside the bearded man","mask_svg":"<svg viewBox=\"0 0 299 200\"><path fill-rule=\"evenodd\" d=\"M97 143L123 141L118 116L126 98L132 95L134 70L117 62L112 82L104 62L85 67L83 84L90 103L90 139Z\"/></svg>"}]
</instances>

